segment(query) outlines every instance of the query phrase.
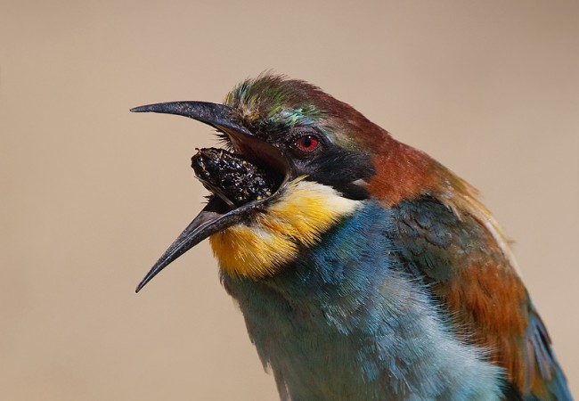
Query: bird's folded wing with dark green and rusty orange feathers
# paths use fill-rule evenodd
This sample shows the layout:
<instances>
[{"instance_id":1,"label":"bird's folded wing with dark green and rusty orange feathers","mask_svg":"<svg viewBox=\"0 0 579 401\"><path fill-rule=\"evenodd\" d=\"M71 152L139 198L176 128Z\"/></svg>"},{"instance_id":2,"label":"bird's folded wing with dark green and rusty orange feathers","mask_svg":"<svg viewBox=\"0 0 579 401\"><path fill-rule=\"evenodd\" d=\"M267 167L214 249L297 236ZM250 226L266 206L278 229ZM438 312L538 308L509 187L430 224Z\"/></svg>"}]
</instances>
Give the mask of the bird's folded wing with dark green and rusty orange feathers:
<instances>
[{"instance_id":1,"label":"bird's folded wing with dark green and rusty orange feathers","mask_svg":"<svg viewBox=\"0 0 579 401\"><path fill-rule=\"evenodd\" d=\"M513 395L571 399L509 244L476 196L424 194L393 210L403 268L427 284L461 341L488 350Z\"/></svg>"}]
</instances>

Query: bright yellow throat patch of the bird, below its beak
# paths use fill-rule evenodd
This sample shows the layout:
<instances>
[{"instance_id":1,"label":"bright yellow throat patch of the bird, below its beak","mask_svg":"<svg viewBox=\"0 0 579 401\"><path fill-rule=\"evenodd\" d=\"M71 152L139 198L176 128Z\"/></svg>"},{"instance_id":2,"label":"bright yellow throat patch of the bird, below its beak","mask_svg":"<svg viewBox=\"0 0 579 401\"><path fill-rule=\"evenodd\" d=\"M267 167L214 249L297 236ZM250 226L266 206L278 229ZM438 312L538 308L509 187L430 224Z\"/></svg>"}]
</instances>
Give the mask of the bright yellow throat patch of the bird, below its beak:
<instances>
[{"instance_id":1,"label":"bright yellow throat patch of the bird, below its beak","mask_svg":"<svg viewBox=\"0 0 579 401\"><path fill-rule=\"evenodd\" d=\"M250 222L209 237L219 266L228 274L254 279L271 276L298 256L300 245L320 241L340 218L360 205L327 185L298 178Z\"/></svg>"}]
</instances>

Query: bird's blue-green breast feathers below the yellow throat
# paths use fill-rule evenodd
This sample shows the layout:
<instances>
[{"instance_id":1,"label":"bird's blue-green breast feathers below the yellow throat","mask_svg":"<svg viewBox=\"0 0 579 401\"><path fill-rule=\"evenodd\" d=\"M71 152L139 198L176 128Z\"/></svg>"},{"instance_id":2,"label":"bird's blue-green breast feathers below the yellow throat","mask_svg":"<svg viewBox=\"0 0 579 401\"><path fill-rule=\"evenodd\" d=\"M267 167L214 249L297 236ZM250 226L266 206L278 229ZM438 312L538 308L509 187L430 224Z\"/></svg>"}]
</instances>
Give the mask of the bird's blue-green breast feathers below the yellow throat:
<instances>
[{"instance_id":1,"label":"bird's blue-green breast feathers below the yellow throat","mask_svg":"<svg viewBox=\"0 0 579 401\"><path fill-rule=\"evenodd\" d=\"M280 274L223 272L249 336L291 399L498 399L502 369L451 335L396 259L388 209L365 201Z\"/></svg>"}]
</instances>

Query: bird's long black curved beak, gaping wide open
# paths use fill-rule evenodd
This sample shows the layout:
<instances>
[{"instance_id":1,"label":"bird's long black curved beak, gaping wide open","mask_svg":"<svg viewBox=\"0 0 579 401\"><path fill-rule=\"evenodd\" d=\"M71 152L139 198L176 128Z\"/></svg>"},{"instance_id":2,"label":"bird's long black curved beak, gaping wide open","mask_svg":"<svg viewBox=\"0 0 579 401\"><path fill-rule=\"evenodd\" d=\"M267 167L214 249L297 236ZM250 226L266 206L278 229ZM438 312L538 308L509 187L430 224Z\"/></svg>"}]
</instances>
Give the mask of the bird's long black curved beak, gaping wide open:
<instances>
[{"instance_id":1,"label":"bird's long black curved beak, gaping wide open","mask_svg":"<svg viewBox=\"0 0 579 401\"><path fill-rule=\"evenodd\" d=\"M272 150L271 145L259 140L248 128L234 122L232 120L232 109L224 104L210 102L167 102L135 107L135 109L131 109L131 111L176 114L199 120L228 135L235 151L240 152L248 158L259 158L262 160L264 159L264 155L269 155L265 160L268 164L280 171L286 169L285 164L280 156ZM272 197L268 199L271 198ZM183 230L183 233L177 237L155 265L151 267L149 273L144 276L143 280L137 286L136 292L140 291L155 275L159 274L161 270L176 258L183 255L187 250L192 249L192 247L208 238L208 236L247 218L252 211L258 209L260 205L268 201L268 199L251 201L237 209L231 209L224 204L224 201L221 201L217 197L212 197L208 205L201 210L199 216L193 219L191 224Z\"/></svg>"}]
</instances>

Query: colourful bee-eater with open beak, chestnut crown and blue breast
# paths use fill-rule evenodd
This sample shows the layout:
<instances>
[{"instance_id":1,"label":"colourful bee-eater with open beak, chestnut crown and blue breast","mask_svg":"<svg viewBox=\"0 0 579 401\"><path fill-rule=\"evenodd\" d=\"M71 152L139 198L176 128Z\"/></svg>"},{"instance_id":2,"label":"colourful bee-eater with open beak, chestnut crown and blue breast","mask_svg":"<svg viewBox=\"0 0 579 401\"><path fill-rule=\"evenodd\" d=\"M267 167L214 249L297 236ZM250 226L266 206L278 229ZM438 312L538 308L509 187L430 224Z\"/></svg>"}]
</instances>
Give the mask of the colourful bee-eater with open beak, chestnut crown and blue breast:
<instances>
[{"instance_id":1,"label":"colourful bee-eater with open beak, chestnut crown and blue breast","mask_svg":"<svg viewBox=\"0 0 579 401\"><path fill-rule=\"evenodd\" d=\"M271 71L222 103L131 110L198 120L223 143L193 157L208 202L137 291L208 239L281 400L572 399L510 240L427 153ZM267 191L241 196L248 171Z\"/></svg>"}]
</instances>

